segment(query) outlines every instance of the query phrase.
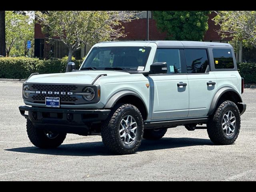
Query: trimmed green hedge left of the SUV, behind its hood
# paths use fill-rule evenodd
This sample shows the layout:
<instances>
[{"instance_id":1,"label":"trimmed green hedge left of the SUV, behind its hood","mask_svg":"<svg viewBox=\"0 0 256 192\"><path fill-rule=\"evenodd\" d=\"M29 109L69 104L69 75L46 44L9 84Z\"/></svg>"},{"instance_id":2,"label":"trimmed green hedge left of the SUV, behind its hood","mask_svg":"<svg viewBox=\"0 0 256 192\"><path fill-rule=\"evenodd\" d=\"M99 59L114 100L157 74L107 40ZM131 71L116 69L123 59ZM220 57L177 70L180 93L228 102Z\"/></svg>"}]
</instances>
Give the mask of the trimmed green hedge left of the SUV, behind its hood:
<instances>
[{"instance_id":1,"label":"trimmed green hedge left of the SUV, behind its hood","mask_svg":"<svg viewBox=\"0 0 256 192\"><path fill-rule=\"evenodd\" d=\"M74 60L76 69L82 60ZM0 58L0 78L26 79L31 73L63 73L66 70L67 58L54 60L39 60L38 58L26 57L1 57Z\"/></svg>"}]
</instances>

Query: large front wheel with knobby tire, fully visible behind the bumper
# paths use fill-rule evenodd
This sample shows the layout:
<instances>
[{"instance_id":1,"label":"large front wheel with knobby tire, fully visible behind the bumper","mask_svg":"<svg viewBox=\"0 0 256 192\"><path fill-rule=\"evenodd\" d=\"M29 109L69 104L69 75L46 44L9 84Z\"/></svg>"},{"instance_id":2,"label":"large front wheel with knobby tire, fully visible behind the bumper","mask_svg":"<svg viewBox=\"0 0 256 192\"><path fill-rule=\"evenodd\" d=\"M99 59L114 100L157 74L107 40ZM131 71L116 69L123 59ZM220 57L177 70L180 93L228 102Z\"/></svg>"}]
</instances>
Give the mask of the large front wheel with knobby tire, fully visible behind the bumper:
<instances>
[{"instance_id":1,"label":"large front wheel with knobby tire, fully visible behind the bumper","mask_svg":"<svg viewBox=\"0 0 256 192\"><path fill-rule=\"evenodd\" d=\"M143 131L143 119L138 108L119 104L102 124L102 142L115 154L132 154L140 146Z\"/></svg>"}]
</instances>

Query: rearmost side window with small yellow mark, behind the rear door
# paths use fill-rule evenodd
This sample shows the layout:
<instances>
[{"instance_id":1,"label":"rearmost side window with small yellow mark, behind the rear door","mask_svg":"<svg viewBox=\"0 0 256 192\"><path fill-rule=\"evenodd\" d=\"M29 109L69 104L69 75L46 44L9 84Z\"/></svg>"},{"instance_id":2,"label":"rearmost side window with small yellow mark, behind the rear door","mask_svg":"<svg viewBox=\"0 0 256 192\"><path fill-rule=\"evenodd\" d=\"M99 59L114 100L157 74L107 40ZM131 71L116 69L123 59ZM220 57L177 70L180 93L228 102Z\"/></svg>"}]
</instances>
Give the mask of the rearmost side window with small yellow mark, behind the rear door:
<instances>
[{"instance_id":1,"label":"rearmost side window with small yellow mark, behind the rear door","mask_svg":"<svg viewBox=\"0 0 256 192\"><path fill-rule=\"evenodd\" d=\"M212 49L216 69L234 69L231 49Z\"/></svg>"}]
</instances>

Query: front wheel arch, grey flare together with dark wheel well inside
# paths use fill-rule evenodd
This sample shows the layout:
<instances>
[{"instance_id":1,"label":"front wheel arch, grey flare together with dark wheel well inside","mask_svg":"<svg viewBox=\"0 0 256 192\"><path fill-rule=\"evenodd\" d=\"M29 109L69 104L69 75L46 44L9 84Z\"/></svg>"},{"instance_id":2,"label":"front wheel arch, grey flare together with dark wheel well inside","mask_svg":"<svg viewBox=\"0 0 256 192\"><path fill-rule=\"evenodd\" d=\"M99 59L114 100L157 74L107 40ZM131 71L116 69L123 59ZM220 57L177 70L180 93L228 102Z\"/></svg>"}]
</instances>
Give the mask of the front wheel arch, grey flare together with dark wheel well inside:
<instances>
[{"instance_id":1,"label":"front wheel arch, grey flare together with dark wheel well inside","mask_svg":"<svg viewBox=\"0 0 256 192\"><path fill-rule=\"evenodd\" d=\"M146 104L142 97L129 90L120 91L116 94L114 94L106 103L104 108L113 108L115 104L118 103L128 103L136 106L138 110L140 110L142 117L144 120L148 117L148 110L146 108Z\"/></svg>"}]
</instances>

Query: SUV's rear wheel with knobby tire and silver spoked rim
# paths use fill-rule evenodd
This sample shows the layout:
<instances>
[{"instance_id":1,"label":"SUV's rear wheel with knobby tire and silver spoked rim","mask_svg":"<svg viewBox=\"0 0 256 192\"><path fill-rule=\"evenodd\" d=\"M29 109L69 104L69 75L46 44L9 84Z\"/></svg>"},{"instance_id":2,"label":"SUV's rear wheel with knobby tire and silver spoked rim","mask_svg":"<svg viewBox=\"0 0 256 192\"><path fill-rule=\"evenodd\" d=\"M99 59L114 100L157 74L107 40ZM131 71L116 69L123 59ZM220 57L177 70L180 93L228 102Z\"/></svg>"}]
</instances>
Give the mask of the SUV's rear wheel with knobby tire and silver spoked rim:
<instances>
[{"instance_id":1,"label":"SUV's rear wheel with knobby tire and silver spoked rim","mask_svg":"<svg viewBox=\"0 0 256 192\"><path fill-rule=\"evenodd\" d=\"M214 144L229 145L235 142L240 131L240 112L232 101L218 104L207 123L207 132Z\"/></svg>"}]
</instances>

